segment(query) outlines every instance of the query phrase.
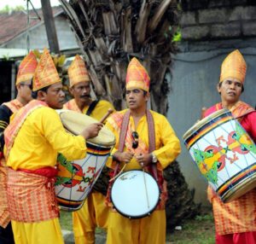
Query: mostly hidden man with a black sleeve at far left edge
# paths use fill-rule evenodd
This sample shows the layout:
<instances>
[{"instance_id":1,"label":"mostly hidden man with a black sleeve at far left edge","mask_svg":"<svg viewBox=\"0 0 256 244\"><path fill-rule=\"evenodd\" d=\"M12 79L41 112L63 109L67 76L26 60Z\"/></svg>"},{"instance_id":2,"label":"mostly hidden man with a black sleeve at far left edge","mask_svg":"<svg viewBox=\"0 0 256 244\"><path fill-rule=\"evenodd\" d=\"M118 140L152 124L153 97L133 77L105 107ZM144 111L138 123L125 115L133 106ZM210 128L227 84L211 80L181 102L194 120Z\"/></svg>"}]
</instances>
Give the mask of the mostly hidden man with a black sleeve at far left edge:
<instances>
[{"instance_id":1,"label":"mostly hidden man with a black sleeve at far left edge","mask_svg":"<svg viewBox=\"0 0 256 244\"><path fill-rule=\"evenodd\" d=\"M32 100L32 77L35 73L36 67L38 66L37 57L31 51L23 61L20 62L19 71L16 78L17 96L10 102L4 102L0 106L0 243L11 244L15 243L14 235L11 228L8 203L6 197L6 162L3 158L3 131L9 125L9 119L11 115L17 112L21 107L25 106L26 103Z\"/></svg>"}]
</instances>

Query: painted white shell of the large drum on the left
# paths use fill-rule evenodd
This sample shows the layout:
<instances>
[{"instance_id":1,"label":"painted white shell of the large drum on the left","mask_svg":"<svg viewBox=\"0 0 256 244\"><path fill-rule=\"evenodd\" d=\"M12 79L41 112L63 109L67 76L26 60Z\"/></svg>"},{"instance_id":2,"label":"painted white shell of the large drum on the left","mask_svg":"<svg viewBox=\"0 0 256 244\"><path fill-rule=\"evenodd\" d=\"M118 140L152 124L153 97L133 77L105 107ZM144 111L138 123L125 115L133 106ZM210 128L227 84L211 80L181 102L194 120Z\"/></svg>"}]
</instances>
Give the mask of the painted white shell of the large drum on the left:
<instances>
[{"instance_id":1,"label":"painted white shell of the large drum on the left","mask_svg":"<svg viewBox=\"0 0 256 244\"><path fill-rule=\"evenodd\" d=\"M61 209L77 211L100 176L112 147L86 143L87 154L82 160L67 161L58 156L58 175L55 183L56 199Z\"/></svg>"}]
</instances>

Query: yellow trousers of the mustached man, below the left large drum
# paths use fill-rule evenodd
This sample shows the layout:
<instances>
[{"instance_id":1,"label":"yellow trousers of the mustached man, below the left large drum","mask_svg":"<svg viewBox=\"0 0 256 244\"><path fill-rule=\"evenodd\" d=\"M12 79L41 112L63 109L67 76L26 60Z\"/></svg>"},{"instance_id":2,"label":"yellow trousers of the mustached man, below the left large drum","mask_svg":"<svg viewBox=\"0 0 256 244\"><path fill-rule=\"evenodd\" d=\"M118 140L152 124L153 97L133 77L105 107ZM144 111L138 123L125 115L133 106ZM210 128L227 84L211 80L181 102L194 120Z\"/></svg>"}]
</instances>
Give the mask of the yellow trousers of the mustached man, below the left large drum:
<instances>
[{"instance_id":1,"label":"yellow trousers of the mustached man, below the left large drum","mask_svg":"<svg viewBox=\"0 0 256 244\"><path fill-rule=\"evenodd\" d=\"M73 212L73 235L76 244L95 243L95 229L108 227L109 208L105 196L93 191L79 211Z\"/></svg>"}]
</instances>

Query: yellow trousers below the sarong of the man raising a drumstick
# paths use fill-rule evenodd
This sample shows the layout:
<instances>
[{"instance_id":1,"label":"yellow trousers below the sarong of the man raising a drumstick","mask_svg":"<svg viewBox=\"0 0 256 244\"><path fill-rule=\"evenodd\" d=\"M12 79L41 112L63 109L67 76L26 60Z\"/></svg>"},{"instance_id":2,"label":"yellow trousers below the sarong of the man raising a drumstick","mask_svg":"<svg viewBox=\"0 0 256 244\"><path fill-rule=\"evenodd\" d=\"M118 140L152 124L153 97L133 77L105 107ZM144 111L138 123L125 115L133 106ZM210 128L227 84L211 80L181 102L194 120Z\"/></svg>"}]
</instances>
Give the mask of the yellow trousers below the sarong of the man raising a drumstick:
<instances>
[{"instance_id":1,"label":"yellow trousers below the sarong of the man raising a drumstick","mask_svg":"<svg viewBox=\"0 0 256 244\"><path fill-rule=\"evenodd\" d=\"M59 218L39 223L20 223L12 220L15 244L64 244Z\"/></svg>"}]
</instances>

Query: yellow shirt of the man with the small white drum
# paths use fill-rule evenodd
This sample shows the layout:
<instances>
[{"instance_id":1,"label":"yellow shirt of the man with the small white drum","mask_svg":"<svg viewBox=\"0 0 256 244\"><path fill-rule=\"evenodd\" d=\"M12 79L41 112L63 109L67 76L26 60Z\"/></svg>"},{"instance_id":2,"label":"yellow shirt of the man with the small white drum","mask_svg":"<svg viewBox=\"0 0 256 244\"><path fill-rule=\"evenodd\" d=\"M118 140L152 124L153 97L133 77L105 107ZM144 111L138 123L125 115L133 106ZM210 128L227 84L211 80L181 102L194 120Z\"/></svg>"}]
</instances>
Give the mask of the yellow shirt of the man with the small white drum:
<instances>
[{"instance_id":1,"label":"yellow shirt of the man with the small white drum","mask_svg":"<svg viewBox=\"0 0 256 244\"><path fill-rule=\"evenodd\" d=\"M122 110L118 113L125 114L127 109ZM181 152L180 142L172 129L172 125L168 122L165 116L160 113L156 113L150 110L154 119L154 131L155 131L155 150L154 155L160 162L162 169L166 168L173 160L177 158L177 155ZM113 117L107 120L106 126L110 131L113 131L116 138L116 144L112 150L114 154L119 147L119 133L120 128L117 126ZM137 131L140 139L148 146L148 122L146 114L140 119L137 128L135 128L134 119L130 116L129 125L131 131ZM124 148L127 151L127 148ZM136 151L135 151L136 154ZM125 166L125 171L141 169L141 166L137 163L137 160L133 157L131 162Z\"/></svg>"}]
</instances>

